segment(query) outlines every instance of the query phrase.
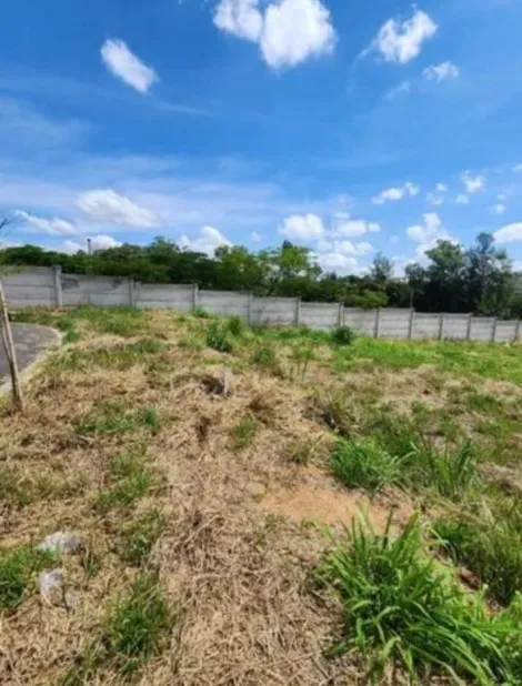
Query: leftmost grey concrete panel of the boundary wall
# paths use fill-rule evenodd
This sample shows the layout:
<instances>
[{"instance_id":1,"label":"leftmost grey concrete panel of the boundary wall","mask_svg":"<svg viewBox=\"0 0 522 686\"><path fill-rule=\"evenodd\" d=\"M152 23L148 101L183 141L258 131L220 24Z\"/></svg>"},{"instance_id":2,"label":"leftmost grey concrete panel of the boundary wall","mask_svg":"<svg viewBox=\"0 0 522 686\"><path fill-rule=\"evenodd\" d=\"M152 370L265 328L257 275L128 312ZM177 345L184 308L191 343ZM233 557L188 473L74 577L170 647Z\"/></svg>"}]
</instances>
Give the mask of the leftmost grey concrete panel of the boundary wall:
<instances>
[{"instance_id":1,"label":"leftmost grey concrete panel of the boundary wall","mask_svg":"<svg viewBox=\"0 0 522 686\"><path fill-rule=\"evenodd\" d=\"M14 268L3 279L6 299L11 307L56 307L53 270L42 268Z\"/></svg>"}]
</instances>

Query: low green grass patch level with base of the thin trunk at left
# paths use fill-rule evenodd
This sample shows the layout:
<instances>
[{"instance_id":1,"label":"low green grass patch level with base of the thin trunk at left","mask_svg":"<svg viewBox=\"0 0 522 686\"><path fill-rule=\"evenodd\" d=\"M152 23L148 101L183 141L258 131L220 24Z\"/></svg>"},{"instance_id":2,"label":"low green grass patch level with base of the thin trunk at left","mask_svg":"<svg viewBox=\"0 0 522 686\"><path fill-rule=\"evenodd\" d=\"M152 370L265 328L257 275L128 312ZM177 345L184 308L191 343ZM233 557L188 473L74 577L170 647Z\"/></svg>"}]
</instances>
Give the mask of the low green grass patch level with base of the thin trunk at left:
<instances>
[{"instance_id":1,"label":"low green grass patch level with base of the thin trunk at left","mask_svg":"<svg viewBox=\"0 0 522 686\"><path fill-rule=\"evenodd\" d=\"M121 401L106 400L76 424L80 436L118 434L138 428L155 433L161 427L161 418L155 407L141 406L128 410Z\"/></svg>"}]
</instances>

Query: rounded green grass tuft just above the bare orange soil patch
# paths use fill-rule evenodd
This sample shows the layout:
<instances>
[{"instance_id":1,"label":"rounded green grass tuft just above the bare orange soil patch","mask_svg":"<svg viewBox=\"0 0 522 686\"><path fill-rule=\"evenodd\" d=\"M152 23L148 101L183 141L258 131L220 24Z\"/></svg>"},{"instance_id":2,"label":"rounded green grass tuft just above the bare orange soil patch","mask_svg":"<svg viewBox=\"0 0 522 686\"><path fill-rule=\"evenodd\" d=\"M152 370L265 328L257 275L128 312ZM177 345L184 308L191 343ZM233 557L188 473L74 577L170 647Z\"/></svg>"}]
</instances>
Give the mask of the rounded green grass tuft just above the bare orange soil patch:
<instances>
[{"instance_id":1,"label":"rounded green grass tuft just above the bare orange soil patch","mask_svg":"<svg viewBox=\"0 0 522 686\"><path fill-rule=\"evenodd\" d=\"M371 494L403 481L404 457L387 453L372 438L348 442L340 438L330 455L330 468L349 488Z\"/></svg>"}]
</instances>

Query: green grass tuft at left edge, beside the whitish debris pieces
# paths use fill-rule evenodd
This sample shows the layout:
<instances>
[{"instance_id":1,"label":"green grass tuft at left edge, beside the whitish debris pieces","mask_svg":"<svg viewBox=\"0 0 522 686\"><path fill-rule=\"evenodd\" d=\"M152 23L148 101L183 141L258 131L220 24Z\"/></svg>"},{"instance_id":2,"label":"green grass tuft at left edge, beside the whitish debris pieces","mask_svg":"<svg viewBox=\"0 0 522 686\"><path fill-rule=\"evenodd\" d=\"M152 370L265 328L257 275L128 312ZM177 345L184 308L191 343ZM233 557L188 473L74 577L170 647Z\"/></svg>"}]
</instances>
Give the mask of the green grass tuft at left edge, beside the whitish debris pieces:
<instances>
[{"instance_id":1,"label":"green grass tuft at left edge, beside the whitish debris pieces","mask_svg":"<svg viewBox=\"0 0 522 686\"><path fill-rule=\"evenodd\" d=\"M21 605L34 574L54 562L54 554L38 553L30 547L0 551L0 612Z\"/></svg>"}]
</instances>

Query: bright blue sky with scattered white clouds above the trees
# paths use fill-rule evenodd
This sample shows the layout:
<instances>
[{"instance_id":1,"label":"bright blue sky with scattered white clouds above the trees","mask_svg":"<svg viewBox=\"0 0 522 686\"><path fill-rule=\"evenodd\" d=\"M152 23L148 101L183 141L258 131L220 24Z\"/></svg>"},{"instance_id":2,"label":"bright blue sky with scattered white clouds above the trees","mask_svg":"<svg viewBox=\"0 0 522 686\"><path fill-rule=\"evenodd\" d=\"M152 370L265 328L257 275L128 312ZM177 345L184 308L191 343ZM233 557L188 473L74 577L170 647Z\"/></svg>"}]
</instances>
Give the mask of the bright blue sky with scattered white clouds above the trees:
<instances>
[{"instance_id":1,"label":"bright blue sky with scattered white clouds above the trees","mask_svg":"<svg viewBox=\"0 0 522 686\"><path fill-rule=\"evenodd\" d=\"M4 241L284 238L400 272L496 233L522 269L522 0L18 0Z\"/></svg>"}]
</instances>

